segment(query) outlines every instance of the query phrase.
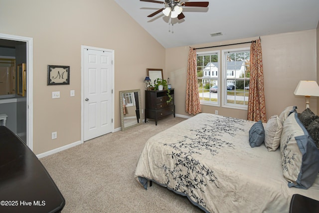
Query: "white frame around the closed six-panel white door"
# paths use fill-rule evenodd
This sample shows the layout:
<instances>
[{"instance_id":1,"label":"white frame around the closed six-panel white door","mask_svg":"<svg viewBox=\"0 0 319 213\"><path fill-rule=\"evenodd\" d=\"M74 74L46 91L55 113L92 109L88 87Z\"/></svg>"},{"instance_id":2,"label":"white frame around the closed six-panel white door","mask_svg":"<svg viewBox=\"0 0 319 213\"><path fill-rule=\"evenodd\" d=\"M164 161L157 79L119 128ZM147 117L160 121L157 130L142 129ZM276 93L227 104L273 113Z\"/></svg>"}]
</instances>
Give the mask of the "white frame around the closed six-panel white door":
<instances>
[{"instance_id":1,"label":"white frame around the closed six-panel white door","mask_svg":"<svg viewBox=\"0 0 319 213\"><path fill-rule=\"evenodd\" d=\"M93 46L81 45L81 144L84 143L84 50L93 49L112 52L112 132L114 132L114 49L104 49Z\"/></svg>"}]
</instances>

